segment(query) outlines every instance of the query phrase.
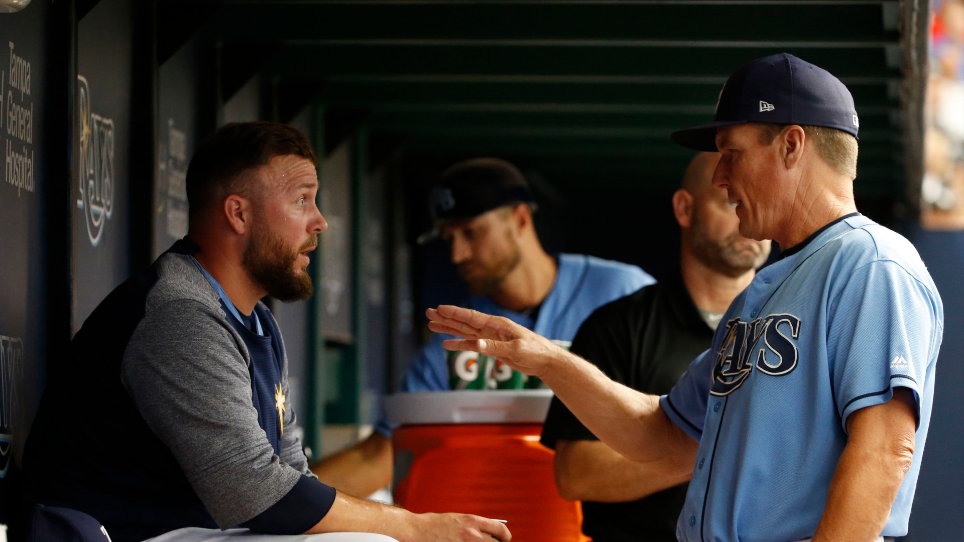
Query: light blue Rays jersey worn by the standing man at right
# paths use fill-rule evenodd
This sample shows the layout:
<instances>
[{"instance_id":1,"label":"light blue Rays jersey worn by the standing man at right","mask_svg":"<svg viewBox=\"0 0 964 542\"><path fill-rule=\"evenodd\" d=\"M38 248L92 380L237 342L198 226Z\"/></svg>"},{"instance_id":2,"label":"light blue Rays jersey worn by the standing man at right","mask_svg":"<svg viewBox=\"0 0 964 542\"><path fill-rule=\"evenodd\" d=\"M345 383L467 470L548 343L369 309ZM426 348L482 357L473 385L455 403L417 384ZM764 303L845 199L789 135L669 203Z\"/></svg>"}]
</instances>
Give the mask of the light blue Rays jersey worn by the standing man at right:
<instances>
[{"instance_id":1,"label":"light blue Rays jersey worn by the standing man at right","mask_svg":"<svg viewBox=\"0 0 964 542\"><path fill-rule=\"evenodd\" d=\"M944 328L941 298L910 242L844 217L763 268L723 322L660 399L700 441L678 538L811 537L847 417L887 402L895 387L917 397L917 444L882 534L906 534Z\"/></svg>"}]
</instances>

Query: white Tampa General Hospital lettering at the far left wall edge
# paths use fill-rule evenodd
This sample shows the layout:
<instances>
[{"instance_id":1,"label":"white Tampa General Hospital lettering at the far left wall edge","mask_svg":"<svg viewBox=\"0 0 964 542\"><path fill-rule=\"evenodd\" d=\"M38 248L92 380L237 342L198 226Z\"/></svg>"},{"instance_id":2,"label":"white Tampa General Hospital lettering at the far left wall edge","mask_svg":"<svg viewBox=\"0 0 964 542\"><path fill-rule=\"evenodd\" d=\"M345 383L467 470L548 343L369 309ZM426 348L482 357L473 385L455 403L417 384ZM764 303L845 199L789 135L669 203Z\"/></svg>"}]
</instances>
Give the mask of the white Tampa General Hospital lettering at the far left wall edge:
<instances>
[{"instance_id":1,"label":"white Tampa General Hospital lettering at the far left wall edge","mask_svg":"<svg viewBox=\"0 0 964 542\"><path fill-rule=\"evenodd\" d=\"M0 69L0 152L4 180L22 192L37 190L34 181L34 101L30 95L30 61L16 54L13 41L7 70ZM9 85L9 87L8 87Z\"/></svg>"}]
</instances>

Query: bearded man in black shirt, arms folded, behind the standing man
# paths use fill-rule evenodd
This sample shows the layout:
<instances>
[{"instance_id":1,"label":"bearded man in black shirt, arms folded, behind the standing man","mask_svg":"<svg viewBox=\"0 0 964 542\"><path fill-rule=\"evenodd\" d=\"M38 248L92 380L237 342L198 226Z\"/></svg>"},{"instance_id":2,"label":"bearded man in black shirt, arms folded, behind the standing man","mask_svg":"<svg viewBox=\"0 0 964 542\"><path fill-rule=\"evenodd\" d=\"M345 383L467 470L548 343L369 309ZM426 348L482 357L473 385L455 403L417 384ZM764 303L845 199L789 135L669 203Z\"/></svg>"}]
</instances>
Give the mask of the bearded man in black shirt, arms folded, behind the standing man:
<instances>
[{"instance_id":1,"label":"bearded man in black shirt, arms folded, behind the standing man","mask_svg":"<svg viewBox=\"0 0 964 542\"><path fill-rule=\"evenodd\" d=\"M769 255L769 241L742 237L725 190L710 184L719 154L690 162L673 195L682 232L680 268L604 305L582 324L572 351L610 378L645 393L668 393L710 347L723 312ZM559 494L582 500L582 530L595 542L677 539L685 476L623 457L553 399L542 443L555 448Z\"/></svg>"}]
</instances>

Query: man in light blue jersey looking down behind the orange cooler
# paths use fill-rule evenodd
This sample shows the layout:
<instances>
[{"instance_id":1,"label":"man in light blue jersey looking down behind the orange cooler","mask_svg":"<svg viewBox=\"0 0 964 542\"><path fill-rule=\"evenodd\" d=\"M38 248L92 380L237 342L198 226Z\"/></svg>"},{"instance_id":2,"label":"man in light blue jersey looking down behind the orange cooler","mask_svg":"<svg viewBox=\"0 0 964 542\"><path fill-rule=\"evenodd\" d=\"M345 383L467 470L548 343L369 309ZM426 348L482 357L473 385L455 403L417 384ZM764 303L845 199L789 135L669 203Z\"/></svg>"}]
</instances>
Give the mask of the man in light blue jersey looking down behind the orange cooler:
<instances>
[{"instance_id":1,"label":"man in light blue jersey looking down behind the orange cooler","mask_svg":"<svg viewBox=\"0 0 964 542\"><path fill-rule=\"evenodd\" d=\"M547 339L571 341L597 308L656 281L635 265L574 254L549 255L532 221L536 208L522 173L505 160L475 158L448 168L434 187L432 230L469 286L466 305L498 314ZM415 357L400 392L450 389L448 361L436 335ZM370 495L391 481L393 425L383 416L358 446L315 465L326 483Z\"/></svg>"}]
</instances>

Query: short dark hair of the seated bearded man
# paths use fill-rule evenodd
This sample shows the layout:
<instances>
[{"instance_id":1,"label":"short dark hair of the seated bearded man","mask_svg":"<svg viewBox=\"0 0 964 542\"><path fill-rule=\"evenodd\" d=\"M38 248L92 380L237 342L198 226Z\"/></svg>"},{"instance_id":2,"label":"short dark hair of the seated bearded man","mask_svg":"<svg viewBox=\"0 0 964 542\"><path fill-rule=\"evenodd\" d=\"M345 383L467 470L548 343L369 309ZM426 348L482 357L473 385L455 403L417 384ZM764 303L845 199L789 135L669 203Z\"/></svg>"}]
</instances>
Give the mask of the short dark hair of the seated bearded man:
<instances>
[{"instance_id":1,"label":"short dark hair of the seated bearded man","mask_svg":"<svg viewBox=\"0 0 964 542\"><path fill-rule=\"evenodd\" d=\"M190 216L230 194L245 194L248 176L275 156L295 154L318 163L304 132L278 122L230 122L218 128L191 158L184 183Z\"/></svg>"}]
</instances>

